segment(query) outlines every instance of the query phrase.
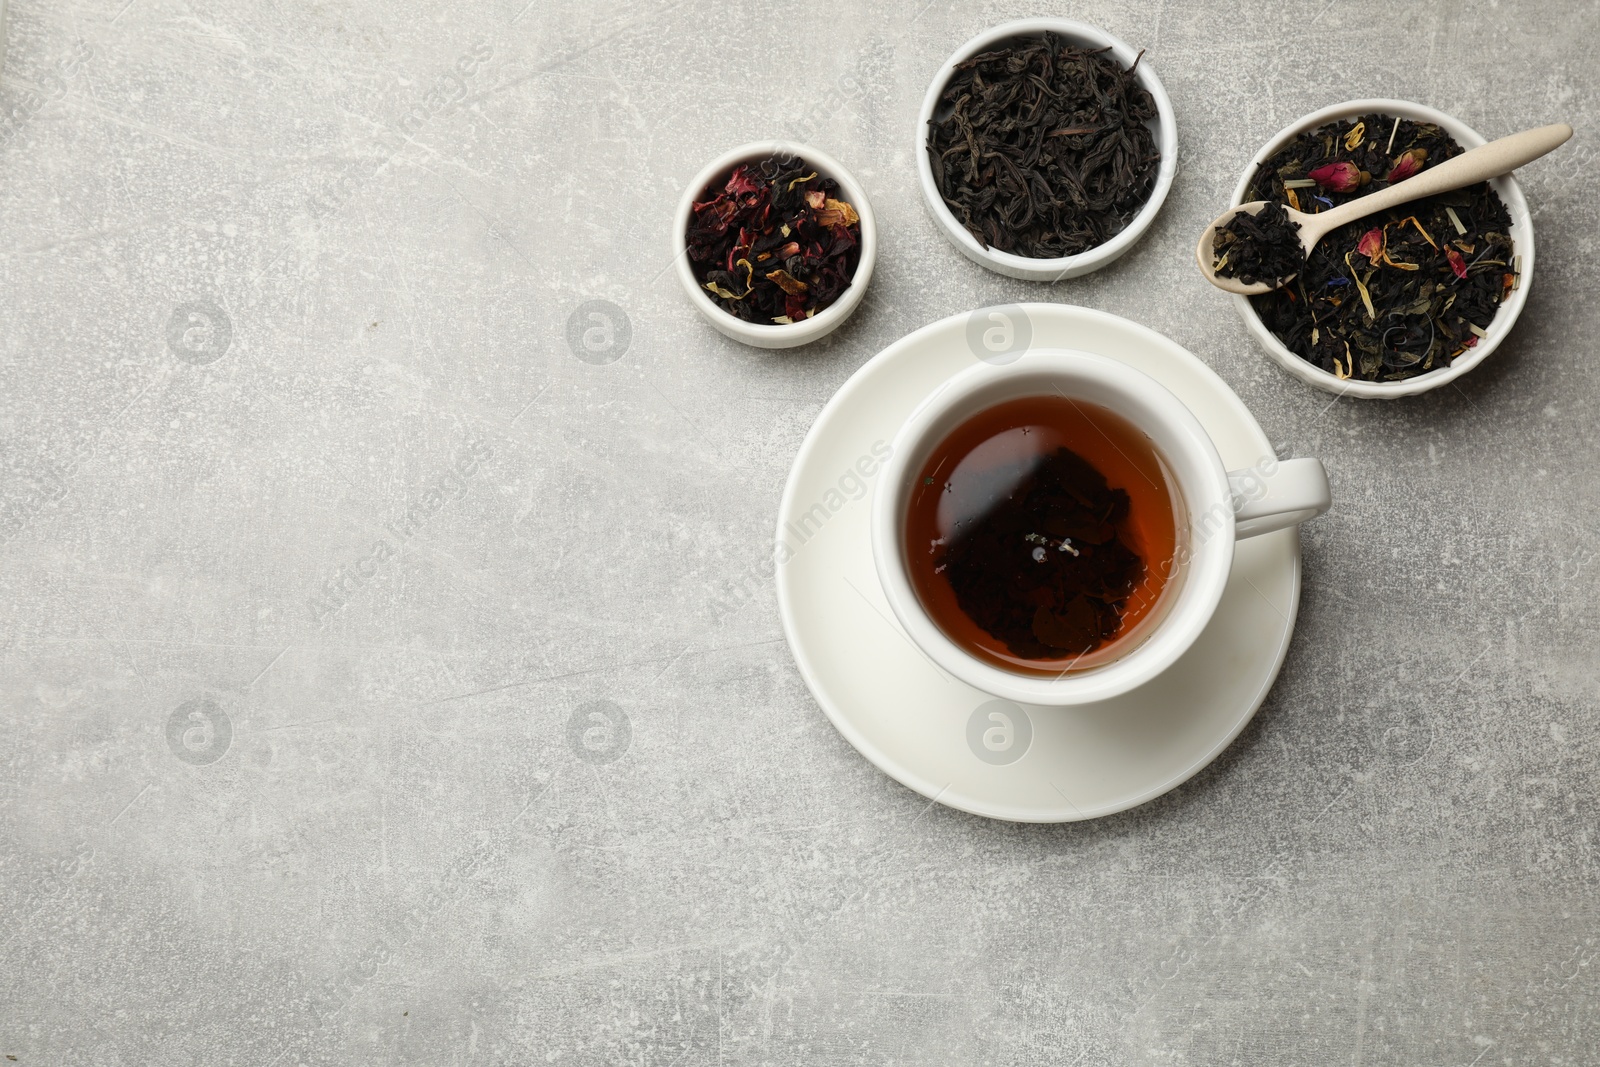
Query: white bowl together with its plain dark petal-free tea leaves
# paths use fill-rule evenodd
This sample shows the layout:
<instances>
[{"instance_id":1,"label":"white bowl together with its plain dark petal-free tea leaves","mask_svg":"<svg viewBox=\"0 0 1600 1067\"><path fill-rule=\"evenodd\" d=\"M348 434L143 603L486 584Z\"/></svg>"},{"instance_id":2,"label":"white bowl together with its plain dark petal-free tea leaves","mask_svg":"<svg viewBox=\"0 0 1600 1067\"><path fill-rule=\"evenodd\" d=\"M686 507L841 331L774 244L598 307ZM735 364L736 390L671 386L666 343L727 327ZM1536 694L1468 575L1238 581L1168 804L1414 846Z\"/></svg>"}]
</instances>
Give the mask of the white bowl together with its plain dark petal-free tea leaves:
<instances>
[{"instance_id":1,"label":"white bowl together with its plain dark petal-free tea leaves","mask_svg":"<svg viewBox=\"0 0 1600 1067\"><path fill-rule=\"evenodd\" d=\"M1178 125L1149 56L1070 19L971 38L917 118L928 211L968 259L1030 282L1098 270L1155 221Z\"/></svg>"}]
</instances>

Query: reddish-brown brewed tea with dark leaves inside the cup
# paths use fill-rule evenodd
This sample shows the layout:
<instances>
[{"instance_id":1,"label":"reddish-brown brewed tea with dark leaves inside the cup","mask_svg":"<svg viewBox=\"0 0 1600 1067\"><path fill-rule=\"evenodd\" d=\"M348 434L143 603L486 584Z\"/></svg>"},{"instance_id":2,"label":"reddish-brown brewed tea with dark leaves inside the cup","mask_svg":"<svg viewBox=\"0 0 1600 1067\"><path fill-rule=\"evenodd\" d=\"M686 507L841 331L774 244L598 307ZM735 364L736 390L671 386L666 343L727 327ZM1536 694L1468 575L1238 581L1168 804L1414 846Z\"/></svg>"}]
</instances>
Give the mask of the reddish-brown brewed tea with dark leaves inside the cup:
<instances>
[{"instance_id":1,"label":"reddish-brown brewed tea with dark leaves inside the cup","mask_svg":"<svg viewBox=\"0 0 1600 1067\"><path fill-rule=\"evenodd\" d=\"M906 563L960 648L1024 673L1091 670L1171 603L1181 502L1150 438L1064 394L950 430L906 509Z\"/></svg>"}]
</instances>

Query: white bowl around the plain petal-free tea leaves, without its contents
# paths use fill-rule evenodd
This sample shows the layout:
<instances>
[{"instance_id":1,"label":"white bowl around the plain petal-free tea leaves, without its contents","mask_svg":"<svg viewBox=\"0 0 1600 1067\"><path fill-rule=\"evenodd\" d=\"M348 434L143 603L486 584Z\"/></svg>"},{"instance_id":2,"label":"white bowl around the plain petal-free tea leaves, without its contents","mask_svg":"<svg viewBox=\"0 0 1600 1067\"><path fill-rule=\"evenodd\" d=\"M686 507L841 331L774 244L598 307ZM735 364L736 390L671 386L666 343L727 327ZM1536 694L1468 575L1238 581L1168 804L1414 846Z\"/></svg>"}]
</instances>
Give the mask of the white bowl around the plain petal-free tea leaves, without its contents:
<instances>
[{"instance_id":1,"label":"white bowl around the plain petal-free tea leaves, without its contents","mask_svg":"<svg viewBox=\"0 0 1600 1067\"><path fill-rule=\"evenodd\" d=\"M1074 45L1110 48L1110 53L1125 67L1131 67L1133 62L1139 59L1138 50L1130 48L1120 38L1112 37L1106 30L1086 22L1050 18L1003 22L994 29L984 30L955 50L955 53L939 69L939 74L934 75L933 83L928 86L928 94L922 101L922 114L917 115L917 176L922 179L922 197L928 202L928 211L933 213L933 221L939 224L939 229L944 230L944 235L950 240L950 243L962 250L963 256L979 266L989 267L997 274L1003 274L1011 278L1022 278L1024 282L1059 282L1062 278L1075 278L1078 275L1090 274L1091 270L1099 270L1110 261L1122 256L1125 251L1133 248L1141 237L1144 237L1147 229L1150 229L1150 222L1155 221L1155 213L1162 210L1162 202L1166 200L1166 192L1173 187L1173 174L1178 173L1178 123L1173 118L1173 101L1166 96L1166 90L1162 88L1162 80L1155 77L1149 56L1146 56L1144 59L1139 59L1138 77L1139 85L1149 90L1150 96L1155 99L1155 120L1152 123L1152 131L1155 134L1155 149L1162 154L1162 162L1155 174L1155 186L1150 189L1150 198L1120 234L1112 237L1104 245L1098 245L1096 248L1078 253L1077 256L1030 259L1027 256L1013 256L1011 253L1003 253L997 248L987 248L976 237L973 237L965 226L962 226L962 221L955 218L949 206L946 206L944 197L939 195L939 187L933 182L933 163L928 162L928 120L933 118L933 112L939 104L939 94L955 74L955 66L958 62L965 62L982 51L989 51L1008 38L1038 37L1046 30Z\"/></svg>"}]
</instances>

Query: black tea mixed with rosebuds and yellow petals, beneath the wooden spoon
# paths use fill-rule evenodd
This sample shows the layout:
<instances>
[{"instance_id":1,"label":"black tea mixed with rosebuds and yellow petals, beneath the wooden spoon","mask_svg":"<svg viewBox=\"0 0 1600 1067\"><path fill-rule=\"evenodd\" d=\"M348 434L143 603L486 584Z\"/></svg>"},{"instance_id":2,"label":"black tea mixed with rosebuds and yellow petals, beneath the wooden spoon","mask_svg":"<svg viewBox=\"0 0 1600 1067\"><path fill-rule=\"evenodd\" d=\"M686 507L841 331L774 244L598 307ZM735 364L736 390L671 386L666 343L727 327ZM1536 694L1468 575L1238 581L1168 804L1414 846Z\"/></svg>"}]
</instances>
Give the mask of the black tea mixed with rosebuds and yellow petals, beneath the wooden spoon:
<instances>
[{"instance_id":1,"label":"black tea mixed with rosebuds and yellow petals, beneath the wooden spoon","mask_svg":"<svg viewBox=\"0 0 1600 1067\"><path fill-rule=\"evenodd\" d=\"M1461 152L1434 123L1362 115L1274 152L1245 200L1325 211ZM1339 378L1402 381L1475 346L1515 283L1510 213L1478 182L1333 230L1293 282L1250 302L1312 365Z\"/></svg>"}]
</instances>

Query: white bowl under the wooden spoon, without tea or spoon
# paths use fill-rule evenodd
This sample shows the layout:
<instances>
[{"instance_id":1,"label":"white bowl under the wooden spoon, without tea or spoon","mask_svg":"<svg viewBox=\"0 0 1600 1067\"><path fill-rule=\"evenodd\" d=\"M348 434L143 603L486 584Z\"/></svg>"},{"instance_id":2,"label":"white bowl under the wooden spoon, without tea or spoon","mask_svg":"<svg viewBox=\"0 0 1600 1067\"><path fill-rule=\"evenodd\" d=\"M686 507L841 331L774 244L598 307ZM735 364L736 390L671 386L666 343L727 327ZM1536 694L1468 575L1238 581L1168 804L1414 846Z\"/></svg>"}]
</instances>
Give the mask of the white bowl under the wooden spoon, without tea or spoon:
<instances>
[{"instance_id":1,"label":"white bowl under the wooden spoon, without tea or spoon","mask_svg":"<svg viewBox=\"0 0 1600 1067\"><path fill-rule=\"evenodd\" d=\"M1256 168L1262 160L1282 149L1293 138L1307 130L1325 126L1330 122L1354 118L1355 115L1371 115L1374 112L1379 115L1410 118L1413 122L1435 123L1454 138L1462 149L1475 149L1483 144L1483 136L1454 115L1446 115L1442 110L1434 110L1432 107L1424 107L1422 104L1413 104L1411 101L1365 99L1334 104L1331 107L1315 110L1299 122L1285 126L1275 138L1267 141L1266 147L1256 152L1250 166L1246 166L1245 173L1240 176L1238 186L1234 187L1234 200L1230 203L1238 205L1245 202L1245 190L1250 189L1250 182L1256 176ZM1259 341L1261 347L1267 350L1267 355L1277 360L1290 374L1294 374L1304 382L1310 382L1317 389L1339 394L1341 397L1395 400L1397 397L1414 397L1416 394L1453 382L1486 360L1490 352L1498 349L1501 341L1506 339L1506 334L1510 333L1512 325L1522 314L1522 306L1528 302L1528 283L1533 280L1533 216L1528 214L1528 200L1522 195L1522 187L1512 174L1501 174L1493 179L1490 186L1496 194L1499 194L1499 198L1506 202L1506 210L1510 213L1512 254L1522 256L1522 280L1501 302L1499 310L1494 312L1494 318L1490 320L1486 330L1488 336L1478 339L1475 346L1456 357L1456 362L1450 366L1440 366L1398 382L1362 382L1350 378L1339 378L1338 374L1330 374L1309 360L1290 352L1282 341L1272 336L1272 331L1261 322L1261 317L1256 315L1256 309L1250 306L1248 296L1235 296L1234 310L1237 310L1238 317L1245 320L1245 326L1248 326L1250 333L1256 336L1256 341Z\"/></svg>"}]
</instances>

